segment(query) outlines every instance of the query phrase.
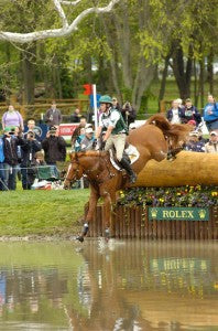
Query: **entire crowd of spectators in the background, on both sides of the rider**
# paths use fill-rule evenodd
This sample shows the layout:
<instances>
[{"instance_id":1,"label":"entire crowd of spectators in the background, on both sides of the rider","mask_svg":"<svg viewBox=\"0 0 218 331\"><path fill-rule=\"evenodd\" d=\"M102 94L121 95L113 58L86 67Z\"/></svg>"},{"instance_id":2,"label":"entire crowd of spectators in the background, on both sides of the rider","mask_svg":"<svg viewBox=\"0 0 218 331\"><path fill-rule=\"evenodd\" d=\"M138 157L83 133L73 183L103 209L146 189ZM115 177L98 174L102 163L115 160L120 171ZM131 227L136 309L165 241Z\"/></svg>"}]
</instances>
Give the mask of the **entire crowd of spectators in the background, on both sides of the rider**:
<instances>
[{"instance_id":1,"label":"entire crowd of spectators in the background, on both sides of the rider","mask_svg":"<svg viewBox=\"0 0 218 331\"><path fill-rule=\"evenodd\" d=\"M137 128L137 111L129 102L122 106L116 97L112 98L112 108L118 109L129 127ZM98 114L99 116L99 114ZM172 102L166 118L172 124L188 124L193 126L184 149L195 152L218 153L218 103L209 95L204 108L203 118L209 137L203 137L203 119L198 109L187 98ZM66 141L59 136L62 113L53 102L45 113L47 134L44 139L39 135L34 118L30 118L24 128L21 114L9 105L2 116L2 135L0 136L0 191L15 190L20 173L23 190L30 190L35 178L37 167L48 166L54 177L58 177L57 162L66 160ZM70 121L77 124L72 136L72 151L87 151L95 148L95 128L87 122L87 118L78 108L70 116Z\"/></svg>"}]
</instances>

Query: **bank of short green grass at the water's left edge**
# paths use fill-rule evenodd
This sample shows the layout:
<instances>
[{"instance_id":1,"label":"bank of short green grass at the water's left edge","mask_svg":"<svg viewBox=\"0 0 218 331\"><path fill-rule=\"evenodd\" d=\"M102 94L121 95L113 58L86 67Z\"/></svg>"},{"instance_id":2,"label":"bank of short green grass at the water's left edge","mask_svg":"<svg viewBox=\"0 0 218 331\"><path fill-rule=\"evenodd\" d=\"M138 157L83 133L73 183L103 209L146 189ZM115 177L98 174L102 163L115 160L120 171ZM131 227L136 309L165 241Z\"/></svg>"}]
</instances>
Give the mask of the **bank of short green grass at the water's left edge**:
<instances>
[{"instance_id":1,"label":"bank of short green grass at the water's left edge","mask_svg":"<svg viewBox=\"0 0 218 331\"><path fill-rule=\"evenodd\" d=\"M89 190L0 193L0 236L75 235Z\"/></svg>"}]
</instances>

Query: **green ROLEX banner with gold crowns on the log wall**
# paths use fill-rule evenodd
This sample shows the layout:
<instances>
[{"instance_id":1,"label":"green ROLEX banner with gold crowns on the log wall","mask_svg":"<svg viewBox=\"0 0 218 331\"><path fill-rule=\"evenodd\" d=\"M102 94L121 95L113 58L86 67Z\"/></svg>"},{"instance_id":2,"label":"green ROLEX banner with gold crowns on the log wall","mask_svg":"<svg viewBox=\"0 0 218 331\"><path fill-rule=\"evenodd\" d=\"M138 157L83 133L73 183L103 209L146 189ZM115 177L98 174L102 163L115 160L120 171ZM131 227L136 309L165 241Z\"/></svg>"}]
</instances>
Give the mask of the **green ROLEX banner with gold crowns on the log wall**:
<instances>
[{"instance_id":1,"label":"green ROLEX banner with gold crowns on the log wall","mask_svg":"<svg viewBox=\"0 0 218 331\"><path fill-rule=\"evenodd\" d=\"M209 221L209 209L149 207L149 220L156 221Z\"/></svg>"}]
</instances>

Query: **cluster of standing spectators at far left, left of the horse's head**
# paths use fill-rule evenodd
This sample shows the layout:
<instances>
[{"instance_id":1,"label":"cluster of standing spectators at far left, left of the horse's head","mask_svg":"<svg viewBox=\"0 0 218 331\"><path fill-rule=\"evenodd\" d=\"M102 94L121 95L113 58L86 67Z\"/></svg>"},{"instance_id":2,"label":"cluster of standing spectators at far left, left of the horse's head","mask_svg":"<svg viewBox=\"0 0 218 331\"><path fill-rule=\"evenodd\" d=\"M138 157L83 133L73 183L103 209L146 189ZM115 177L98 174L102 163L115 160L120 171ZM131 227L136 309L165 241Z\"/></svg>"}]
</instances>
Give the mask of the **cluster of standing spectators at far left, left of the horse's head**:
<instances>
[{"instance_id":1,"label":"cluster of standing spectators at far left, left of the horse's head","mask_svg":"<svg viewBox=\"0 0 218 331\"><path fill-rule=\"evenodd\" d=\"M9 105L2 116L0 136L0 190L15 190L20 174L23 190L30 190L37 177L39 167L50 167L51 177L58 178L57 161L66 159L66 141L58 135L61 110L53 102L45 114L47 134L39 135L35 120L30 118L26 128L22 115Z\"/></svg>"}]
</instances>

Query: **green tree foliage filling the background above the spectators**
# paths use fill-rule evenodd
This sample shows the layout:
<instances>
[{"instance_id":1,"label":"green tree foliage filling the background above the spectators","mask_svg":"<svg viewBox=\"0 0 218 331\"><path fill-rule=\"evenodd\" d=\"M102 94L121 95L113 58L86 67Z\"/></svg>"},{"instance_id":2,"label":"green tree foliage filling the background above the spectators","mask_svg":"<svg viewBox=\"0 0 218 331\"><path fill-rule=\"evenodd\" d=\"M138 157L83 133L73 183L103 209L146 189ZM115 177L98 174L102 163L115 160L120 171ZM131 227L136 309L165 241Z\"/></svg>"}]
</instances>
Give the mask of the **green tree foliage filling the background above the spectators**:
<instances>
[{"instance_id":1,"label":"green tree foliage filling the background above the spectators","mask_svg":"<svg viewBox=\"0 0 218 331\"><path fill-rule=\"evenodd\" d=\"M63 8L70 23L84 9L107 3L107 0L84 0L76 7ZM68 38L37 42L36 56L33 54L31 58L36 83L51 87L46 93L53 90L54 97L61 94L61 89L63 97L73 97L84 83L91 82L102 94L121 92L124 100L132 102L132 92L139 89L134 84L141 56L150 66L162 64L163 57L177 46L182 46L184 57L190 55L197 61L207 56L211 47L214 54L218 54L217 15L217 0L122 0L111 13L86 17L77 32ZM61 26L52 0L0 1L2 31L23 33ZM9 49L7 52L6 47ZM22 58L25 55L25 46L0 44L1 87L21 92ZM123 60L124 55L127 58ZM126 81L126 60L130 68L129 81ZM113 72L111 63L115 63ZM91 65L95 65L95 71ZM119 92L115 90L115 76ZM142 96L143 102L151 100L149 90L151 86Z\"/></svg>"}]
</instances>

